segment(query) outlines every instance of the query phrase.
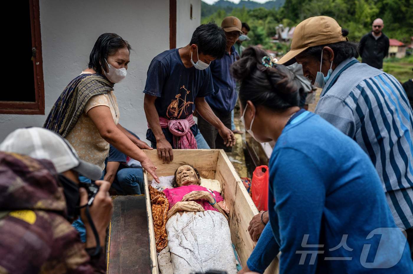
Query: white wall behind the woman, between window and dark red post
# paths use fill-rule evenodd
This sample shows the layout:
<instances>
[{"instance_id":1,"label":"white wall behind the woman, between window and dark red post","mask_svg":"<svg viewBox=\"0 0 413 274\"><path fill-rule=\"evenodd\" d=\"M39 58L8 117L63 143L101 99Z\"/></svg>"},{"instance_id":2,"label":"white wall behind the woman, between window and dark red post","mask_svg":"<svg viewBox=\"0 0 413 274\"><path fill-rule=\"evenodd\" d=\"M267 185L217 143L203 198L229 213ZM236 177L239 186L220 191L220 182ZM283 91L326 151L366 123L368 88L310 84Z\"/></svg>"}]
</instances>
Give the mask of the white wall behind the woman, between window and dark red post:
<instances>
[{"instance_id":1,"label":"white wall behind the woman, between window and dark red post","mask_svg":"<svg viewBox=\"0 0 413 274\"><path fill-rule=\"evenodd\" d=\"M200 0L192 2L200 7ZM126 79L114 89L121 125L146 141L142 91L150 61L169 49L169 1L40 0L40 28L45 115L0 114L0 141L17 128L43 125L63 89L87 67L97 37L105 32L119 34L133 48Z\"/></svg>"}]
</instances>

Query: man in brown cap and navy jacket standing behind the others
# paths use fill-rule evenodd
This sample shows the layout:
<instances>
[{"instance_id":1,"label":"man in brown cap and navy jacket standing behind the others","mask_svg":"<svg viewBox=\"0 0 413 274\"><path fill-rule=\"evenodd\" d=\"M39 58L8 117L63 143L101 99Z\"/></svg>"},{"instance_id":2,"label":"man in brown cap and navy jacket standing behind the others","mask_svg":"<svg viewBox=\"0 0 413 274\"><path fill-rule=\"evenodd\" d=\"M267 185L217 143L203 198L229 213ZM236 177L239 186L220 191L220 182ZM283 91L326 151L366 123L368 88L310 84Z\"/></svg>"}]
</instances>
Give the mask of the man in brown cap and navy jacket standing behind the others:
<instances>
[{"instance_id":1,"label":"man in brown cap and navy jacket standing behind the others","mask_svg":"<svg viewBox=\"0 0 413 274\"><path fill-rule=\"evenodd\" d=\"M225 127L231 128L231 111L235 107L238 96L235 92L235 79L230 74L230 67L235 60L240 58L234 44L242 34L242 24L237 17L229 16L222 21L221 28L225 31L226 36L225 55L223 58L211 62L215 92L207 96L206 100ZM219 136L218 130L211 126L204 117L198 118L198 125L202 136L211 149L231 151L231 147L226 145L225 139Z\"/></svg>"}]
</instances>

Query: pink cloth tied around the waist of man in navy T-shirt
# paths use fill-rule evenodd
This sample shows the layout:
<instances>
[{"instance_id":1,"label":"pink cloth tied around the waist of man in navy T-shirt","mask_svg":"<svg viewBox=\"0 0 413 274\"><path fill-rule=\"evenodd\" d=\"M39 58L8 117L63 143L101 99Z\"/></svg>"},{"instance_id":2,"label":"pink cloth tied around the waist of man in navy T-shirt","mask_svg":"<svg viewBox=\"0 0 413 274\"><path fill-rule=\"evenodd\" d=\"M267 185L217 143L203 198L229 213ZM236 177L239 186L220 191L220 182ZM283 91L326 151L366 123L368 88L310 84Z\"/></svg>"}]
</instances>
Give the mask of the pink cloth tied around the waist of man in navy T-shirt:
<instances>
[{"instance_id":1,"label":"pink cloth tied around the waist of man in navy T-shirt","mask_svg":"<svg viewBox=\"0 0 413 274\"><path fill-rule=\"evenodd\" d=\"M195 125L192 114L185 119L168 120L164 117L159 117L161 128L168 128L173 135L174 149L197 149L197 140L190 130L192 125ZM148 124L148 128L150 128Z\"/></svg>"}]
</instances>

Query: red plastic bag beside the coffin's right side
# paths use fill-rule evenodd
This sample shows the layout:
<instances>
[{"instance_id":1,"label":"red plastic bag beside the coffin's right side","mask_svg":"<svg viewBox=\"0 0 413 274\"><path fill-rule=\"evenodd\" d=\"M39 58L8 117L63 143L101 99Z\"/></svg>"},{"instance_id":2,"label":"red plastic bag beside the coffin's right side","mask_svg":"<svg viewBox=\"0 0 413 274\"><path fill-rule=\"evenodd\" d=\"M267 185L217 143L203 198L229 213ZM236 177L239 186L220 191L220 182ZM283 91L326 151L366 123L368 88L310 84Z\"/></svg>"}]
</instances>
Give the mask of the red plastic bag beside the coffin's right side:
<instances>
[{"instance_id":1,"label":"red plastic bag beside the coffin's right side","mask_svg":"<svg viewBox=\"0 0 413 274\"><path fill-rule=\"evenodd\" d=\"M268 181L269 171L266 165L256 167L252 173L252 200L259 211L268 210Z\"/></svg>"}]
</instances>

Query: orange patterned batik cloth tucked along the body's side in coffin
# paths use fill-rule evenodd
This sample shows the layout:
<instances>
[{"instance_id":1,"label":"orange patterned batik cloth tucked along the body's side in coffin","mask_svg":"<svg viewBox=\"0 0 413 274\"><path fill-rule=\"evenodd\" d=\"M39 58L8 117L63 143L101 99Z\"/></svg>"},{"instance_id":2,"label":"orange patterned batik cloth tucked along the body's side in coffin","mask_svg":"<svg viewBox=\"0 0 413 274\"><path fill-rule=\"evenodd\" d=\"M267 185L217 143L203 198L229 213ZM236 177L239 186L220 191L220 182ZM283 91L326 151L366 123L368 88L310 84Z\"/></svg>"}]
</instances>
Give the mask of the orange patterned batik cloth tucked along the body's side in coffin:
<instances>
[{"instance_id":1,"label":"orange patterned batik cloth tucked along the body's side in coffin","mask_svg":"<svg viewBox=\"0 0 413 274\"><path fill-rule=\"evenodd\" d=\"M166 234L166 213L169 209L169 202L165 194L149 186L149 193L152 204L152 218L154 220L156 251L160 252L168 246L168 235Z\"/></svg>"}]
</instances>

